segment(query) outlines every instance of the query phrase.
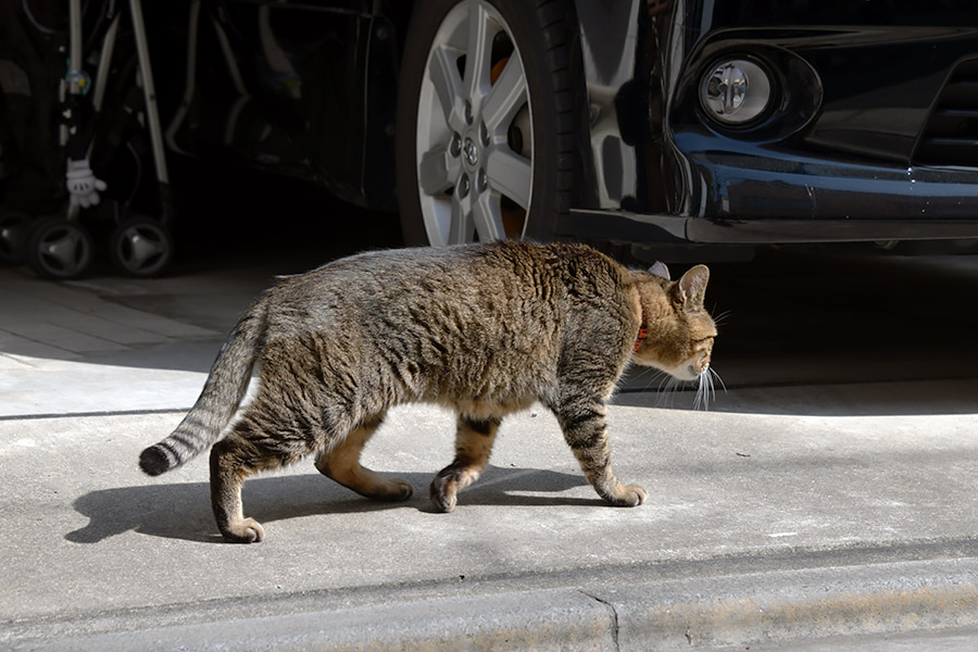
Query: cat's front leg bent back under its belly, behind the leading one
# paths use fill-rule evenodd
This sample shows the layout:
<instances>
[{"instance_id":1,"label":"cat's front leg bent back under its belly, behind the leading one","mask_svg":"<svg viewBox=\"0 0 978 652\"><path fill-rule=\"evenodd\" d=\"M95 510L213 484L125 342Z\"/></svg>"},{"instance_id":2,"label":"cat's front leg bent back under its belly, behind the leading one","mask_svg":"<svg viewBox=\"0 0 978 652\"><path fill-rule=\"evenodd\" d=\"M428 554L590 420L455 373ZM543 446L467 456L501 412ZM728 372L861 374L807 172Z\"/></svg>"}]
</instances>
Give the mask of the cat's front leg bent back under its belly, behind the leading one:
<instances>
[{"instance_id":1,"label":"cat's front leg bent back under its belly, behind the leading one","mask_svg":"<svg viewBox=\"0 0 978 652\"><path fill-rule=\"evenodd\" d=\"M441 512L455 509L457 493L478 479L489 463L492 443L499 430L496 417L475 419L459 416L455 430L455 460L442 468L431 482L431 502Z\"/></svg>"}]
</instances>

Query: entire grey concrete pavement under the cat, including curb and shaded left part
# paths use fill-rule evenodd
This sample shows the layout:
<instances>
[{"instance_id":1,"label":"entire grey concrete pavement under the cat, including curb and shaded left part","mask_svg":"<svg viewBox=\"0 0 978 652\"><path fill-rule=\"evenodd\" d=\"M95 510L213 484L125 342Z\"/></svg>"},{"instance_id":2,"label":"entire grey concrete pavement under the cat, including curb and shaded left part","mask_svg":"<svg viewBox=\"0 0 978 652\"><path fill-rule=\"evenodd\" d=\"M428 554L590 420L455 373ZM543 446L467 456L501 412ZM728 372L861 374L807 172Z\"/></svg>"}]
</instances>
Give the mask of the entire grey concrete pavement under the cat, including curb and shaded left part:
<instances>
[{"instance_id":1,"label":"entire grey concrete pavement under the cat, including curb and shaded left part","mask_svg":"<svg viewBox=\"0 0 978 652\"><path fill-rule=\"evenodd\" d=\"M650 496L634 510L600 503L535 410L436 514L452 418L404 408L366 464L413 499L369 502L310 462L249 480L267 538L223 544L203 457L161 478L136 459L269 277L0 269L0 647L756 649L978 627L967 377L758 387L718 355L729 391L694 412L637 376L610 413L615 471Z\"/></svg>"}]
</instances>

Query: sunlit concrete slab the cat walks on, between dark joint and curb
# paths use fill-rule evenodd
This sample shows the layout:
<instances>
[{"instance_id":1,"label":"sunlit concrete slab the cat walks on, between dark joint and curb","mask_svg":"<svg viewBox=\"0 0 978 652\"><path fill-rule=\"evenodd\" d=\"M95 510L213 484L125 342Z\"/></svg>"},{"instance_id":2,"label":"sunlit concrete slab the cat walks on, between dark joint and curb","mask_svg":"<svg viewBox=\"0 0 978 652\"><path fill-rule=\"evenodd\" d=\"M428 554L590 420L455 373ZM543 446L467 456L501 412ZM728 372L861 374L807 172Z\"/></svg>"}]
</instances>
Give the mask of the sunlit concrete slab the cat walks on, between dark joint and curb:
<instances>
[{"instance_id":1,"label":"sunlit concrete slab the cat walks on, between dark joint and curb","mask_svg":"<svg viewBox=\"0 0 978 652\"><path fill-rule=\"evenodd\" d=\"M802 405L812 389L769 391L794 392L778 403ZM729 400L741 403L736 391ZM790 565L786 560L822 552L841 576L867 549L886 550L883 563L978 556L978 426L970 414L788 416L615 405L616 473L650 496L645 505L618 510L587 485L555 419L529 411L503 423L490 468L455 512L437 514L424 489L450 461L453 418L411 406L391 414L365 463L409 479L414 498L367 501L323 478L311 462L250 479L246 513L267 535L253 546L224 544L216 535L204 459L161 478L139 473L141 448L181 416L0 421L0 513L17 532L0 570L9 587L0 644L85 634L74 627L100 614L240 604L242 597L319 594L335 609L331 598L351 591L487 578L519 586L582 570L614 575L716 560L714 573L725 575L743 556L775 560L770 569L778 570ZM903 586L895 577L894 586ZM679 595L673 590L662 595ZM594 595L619 602L619 622L659 622L657 607L638 600L645 593L638 587ZM739 604L745 595L729 600ZM128 627L126 617L106 623L108 631Z\"/></svg>"}]
</instances>

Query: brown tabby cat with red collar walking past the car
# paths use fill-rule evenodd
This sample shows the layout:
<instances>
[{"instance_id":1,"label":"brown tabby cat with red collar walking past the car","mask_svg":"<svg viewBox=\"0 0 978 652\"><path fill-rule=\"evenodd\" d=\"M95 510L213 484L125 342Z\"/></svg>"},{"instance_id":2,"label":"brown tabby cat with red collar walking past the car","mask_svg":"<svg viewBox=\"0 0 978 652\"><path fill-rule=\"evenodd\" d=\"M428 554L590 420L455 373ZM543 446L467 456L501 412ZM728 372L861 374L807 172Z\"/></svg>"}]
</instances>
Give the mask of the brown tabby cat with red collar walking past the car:
<instances>
[{"instance_id":1,"label":"brown tabby cat with red collar walking past the car","mask_svg":"<svg viewBox=\"0 0 978 652\"><path fill-rule=\"evenodd\" d=\"M611 469L605 406L629 360L687 380L706 372L709 275L700 265L670 281L581 244L506 241L363 253L285 277L241 317L197 403L139 463L159 475L213 444L217 527L260 541L242 513L247 476L315 454L339 484L404 500L411 485L364 468L360 453L388 409L434 402L457 414L455 459L430 487L449 512L485 468L503 416L539 401L598 493L638 505L645 492ZM255 362L254 401L221 439Z\"/></svg>"}]
</instances>

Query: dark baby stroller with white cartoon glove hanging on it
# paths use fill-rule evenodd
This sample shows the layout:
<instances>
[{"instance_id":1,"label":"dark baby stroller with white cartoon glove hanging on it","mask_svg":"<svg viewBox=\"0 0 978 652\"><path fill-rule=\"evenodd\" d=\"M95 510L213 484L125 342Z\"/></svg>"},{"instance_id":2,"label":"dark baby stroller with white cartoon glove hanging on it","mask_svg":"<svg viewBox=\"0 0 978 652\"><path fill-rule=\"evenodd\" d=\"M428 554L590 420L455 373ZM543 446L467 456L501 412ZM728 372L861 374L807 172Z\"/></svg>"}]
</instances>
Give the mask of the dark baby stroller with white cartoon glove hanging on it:
<instances>
[{"instance_id":1,"label":"dark baby stroller with white cartoon glove hanging on it","mask_svg":"<svg viewBox=\"0 0 978 652\"><path fill-rule=\"evenodd\" d=\"M61 2L4 5L0 261L76 278L95 233L120 272L162 274L174 210L140 0L68 0L66 38Z\"/></svg>"}]
</instances>

